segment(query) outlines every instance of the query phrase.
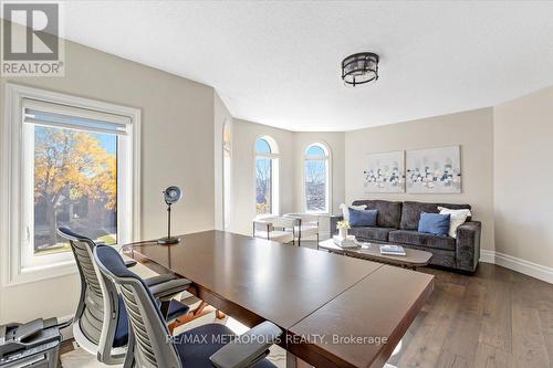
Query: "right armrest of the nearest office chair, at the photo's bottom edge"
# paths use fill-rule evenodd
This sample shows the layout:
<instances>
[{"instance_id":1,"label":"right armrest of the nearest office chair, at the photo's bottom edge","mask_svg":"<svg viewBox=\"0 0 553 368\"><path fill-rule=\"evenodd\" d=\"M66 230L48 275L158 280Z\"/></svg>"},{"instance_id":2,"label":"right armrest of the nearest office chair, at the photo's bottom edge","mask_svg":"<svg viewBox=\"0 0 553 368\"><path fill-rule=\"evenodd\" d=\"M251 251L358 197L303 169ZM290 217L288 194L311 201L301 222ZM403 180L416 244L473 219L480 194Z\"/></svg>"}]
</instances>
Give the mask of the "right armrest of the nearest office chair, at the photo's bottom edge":
<instances>
[{"instance_id":1,"label":"right armrest of the nearest office chair, at the photo's bottom edge","mask_svg":"<svg viewBox=\"0 0 553 368\"><path fill-rule=\"evenodd\" d=\"M247 368L267 357L282 330L270 322L257 325L209 357L217 368Z\"/></svg>"}]
</instances>

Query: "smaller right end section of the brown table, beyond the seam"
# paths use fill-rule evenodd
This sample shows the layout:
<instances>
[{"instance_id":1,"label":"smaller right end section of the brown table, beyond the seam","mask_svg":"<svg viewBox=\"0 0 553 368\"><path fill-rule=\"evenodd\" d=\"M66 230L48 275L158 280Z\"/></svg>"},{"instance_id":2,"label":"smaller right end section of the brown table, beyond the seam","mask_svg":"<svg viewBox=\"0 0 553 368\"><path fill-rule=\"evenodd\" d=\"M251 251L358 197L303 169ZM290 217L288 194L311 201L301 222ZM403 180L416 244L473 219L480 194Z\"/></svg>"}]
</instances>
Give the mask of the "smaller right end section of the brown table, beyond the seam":
<instances>
[{"instance_id":1,"label":"smaller right end section of the brown table, beyond the seam","mask_svg":"<svg viewBox=\"0 0 553 368\"><path fill-rule=\"evenodd\" d=\"M333 367L383 367L431 294L432 280L384 265L292 326L291 336L312 340L288 348L315 367L331 367L331 361Z\"/></svg>"}]
</instances>

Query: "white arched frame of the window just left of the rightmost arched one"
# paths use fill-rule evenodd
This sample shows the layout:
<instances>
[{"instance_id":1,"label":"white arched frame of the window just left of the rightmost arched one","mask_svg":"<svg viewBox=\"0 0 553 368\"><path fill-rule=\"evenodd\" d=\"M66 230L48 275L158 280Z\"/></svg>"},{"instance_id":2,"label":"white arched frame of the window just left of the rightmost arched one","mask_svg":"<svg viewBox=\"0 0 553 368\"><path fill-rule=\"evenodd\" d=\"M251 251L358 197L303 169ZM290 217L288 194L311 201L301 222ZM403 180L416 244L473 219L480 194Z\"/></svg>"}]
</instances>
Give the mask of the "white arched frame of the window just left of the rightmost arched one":
<instances>
[{"instance_id":1,"label":"white arched frame of the window just left of the rightmost arched one","mask_svg":"<svg viewBox=\"0 0 553 368\"><path fill-rule=\"evenodd\" d=\"M255 146L259 139L263 139L267 141L269 147L271 148L270 154L262 154L258 153ZM257 209L257 161L258 158L268 158L271 160L271 211L269 213L258 213ZM274 138L271 136L258 136L255 137L255 140L253 141L253 212L255 213L255 217L263 217L263 215L278 215L280 213L280 177L279 177L279 171L280 171L280 151L279 151L279 145Z\"/></svg>"}]
</instances>

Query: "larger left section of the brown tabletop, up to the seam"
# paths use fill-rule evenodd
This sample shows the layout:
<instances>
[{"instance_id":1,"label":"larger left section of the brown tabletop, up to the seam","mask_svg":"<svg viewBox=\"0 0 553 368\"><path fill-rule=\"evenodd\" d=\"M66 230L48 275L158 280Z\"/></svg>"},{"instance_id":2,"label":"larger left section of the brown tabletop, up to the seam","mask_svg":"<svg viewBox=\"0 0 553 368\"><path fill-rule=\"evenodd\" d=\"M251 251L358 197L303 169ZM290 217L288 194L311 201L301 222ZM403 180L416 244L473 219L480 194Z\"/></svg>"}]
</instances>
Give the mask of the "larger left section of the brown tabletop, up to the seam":
<instances>
[{"instance_id":1,"label":"larger left section of the brown tabletop, up to the seam","mask_svg":"<svg viewBox=\"0 0 553 368\"><path fill-rule=\"evenodd\" d=\"M268 319L288 329L382 266L222 231L179 238L174 245L126 249L192 281L198 296L222 312L257 315L238 318L248 325Z\"/></svg>"}]
</instances>

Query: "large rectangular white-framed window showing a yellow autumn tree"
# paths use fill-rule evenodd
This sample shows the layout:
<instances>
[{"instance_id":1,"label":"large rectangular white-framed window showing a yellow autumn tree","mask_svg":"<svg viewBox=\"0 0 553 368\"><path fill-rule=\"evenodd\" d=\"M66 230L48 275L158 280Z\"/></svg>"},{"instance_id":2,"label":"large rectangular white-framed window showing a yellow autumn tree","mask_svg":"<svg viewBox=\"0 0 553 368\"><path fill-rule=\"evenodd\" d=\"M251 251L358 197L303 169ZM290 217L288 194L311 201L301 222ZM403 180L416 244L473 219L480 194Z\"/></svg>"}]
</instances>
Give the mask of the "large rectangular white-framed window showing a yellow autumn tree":
<instances>
[{"instance_id":1,"label":"large rectangular white-framed window showing a yellow autumn tree","mask_svg":"<svg viewBox=\"0 0 553 368\"><path fill-rule=\"evenodd\" d=\"M7 202L19 212L6 220L11 278L73 262L70 244L58 235L61 227L108 245L132 241L138 228L137 111L10 87Z\"/></svg>"}]
</instances>

